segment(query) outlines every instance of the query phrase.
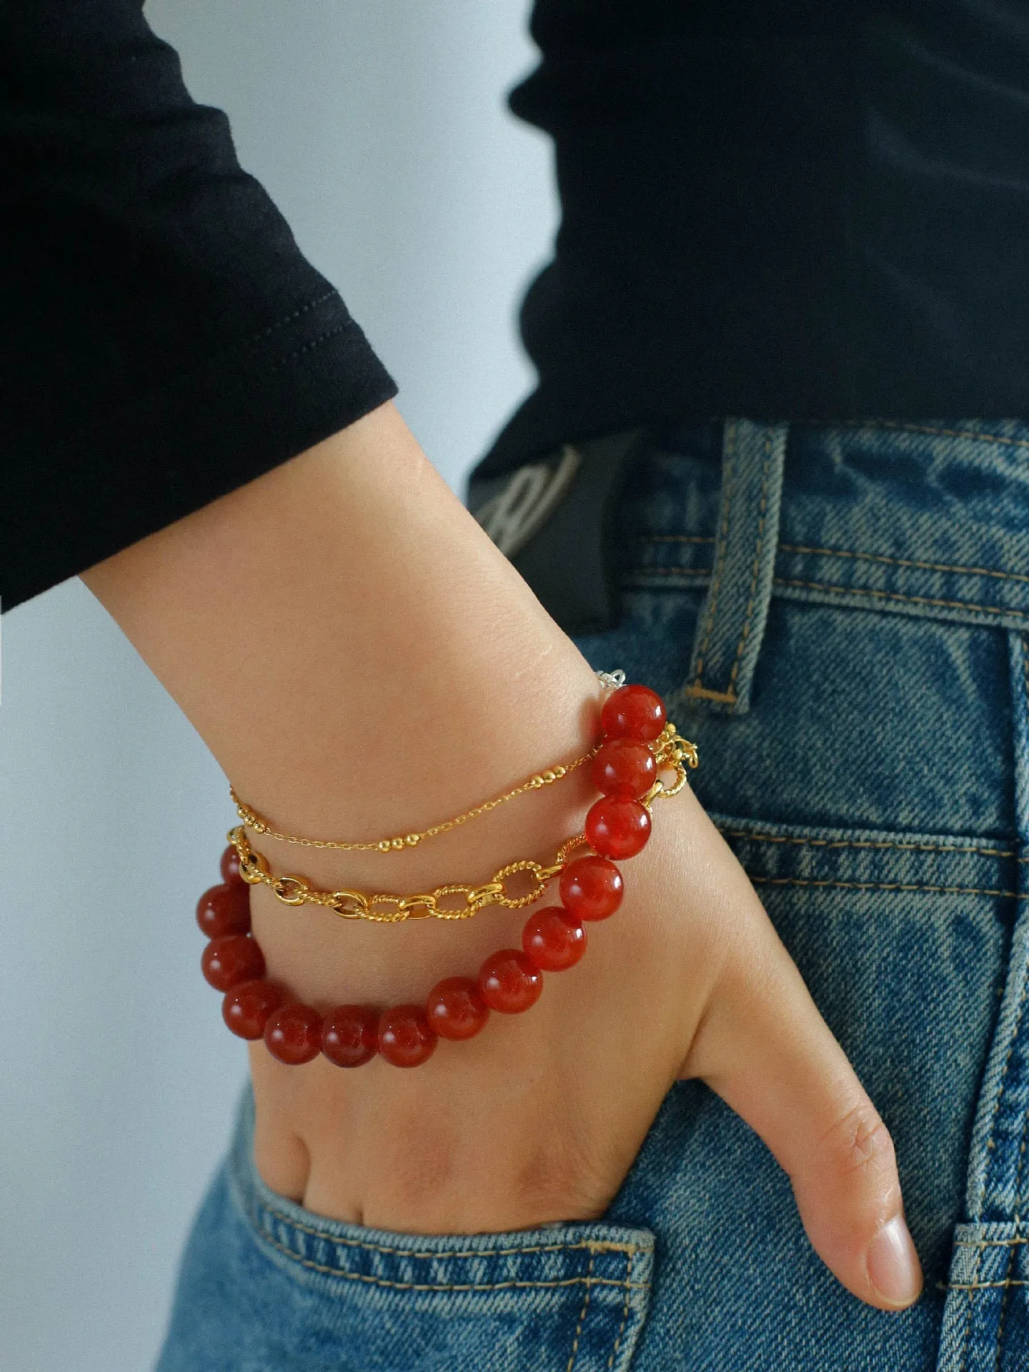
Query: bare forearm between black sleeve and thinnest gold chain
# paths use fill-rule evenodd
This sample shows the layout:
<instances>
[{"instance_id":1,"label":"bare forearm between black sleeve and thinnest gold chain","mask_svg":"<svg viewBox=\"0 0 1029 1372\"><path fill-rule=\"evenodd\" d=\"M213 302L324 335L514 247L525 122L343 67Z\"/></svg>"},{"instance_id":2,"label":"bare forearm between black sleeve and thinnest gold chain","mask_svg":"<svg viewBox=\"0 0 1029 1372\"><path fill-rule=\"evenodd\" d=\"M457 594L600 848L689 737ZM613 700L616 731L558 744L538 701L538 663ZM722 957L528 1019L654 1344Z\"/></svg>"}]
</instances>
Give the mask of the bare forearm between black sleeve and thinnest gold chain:
<instances>
[{"instance_id":1,"label":"bare forearm between black sleeve and thinnest gold chain","mask_svg":"<svg viewBox=\"0 0 1029 1372\"><path fill-rule=\"evenodd\" d=\"M391 403L82 579L294 833L406 833L583 737L583 659Z\"/></svg>"}]
</instances>

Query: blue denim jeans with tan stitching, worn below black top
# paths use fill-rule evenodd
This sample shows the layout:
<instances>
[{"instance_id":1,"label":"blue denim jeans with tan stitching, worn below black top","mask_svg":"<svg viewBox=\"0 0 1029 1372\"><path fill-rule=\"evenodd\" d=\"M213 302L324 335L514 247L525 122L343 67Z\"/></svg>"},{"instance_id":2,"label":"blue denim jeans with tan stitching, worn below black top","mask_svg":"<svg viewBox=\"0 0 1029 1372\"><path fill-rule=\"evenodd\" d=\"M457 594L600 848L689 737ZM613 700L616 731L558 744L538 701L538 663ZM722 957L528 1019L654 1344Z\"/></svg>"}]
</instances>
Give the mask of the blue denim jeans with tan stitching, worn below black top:
<instances>
[{"instance_id":1,"label":"blue denim jeans with tan stitching, worn below black top","mask_svg":"<svg viewBox=\"0 0 1029 1372\"><path fill-rule=\"evenodd\" d=\"M1029 1369L1029 424L686 424L619 502L622 622L896 1142L900 1314L698 1083L601 1221L412 1236L257 1176L247 1096L161 1372ZM571 975L571 974L569 974Z\"/></svg>"}]
</instances>

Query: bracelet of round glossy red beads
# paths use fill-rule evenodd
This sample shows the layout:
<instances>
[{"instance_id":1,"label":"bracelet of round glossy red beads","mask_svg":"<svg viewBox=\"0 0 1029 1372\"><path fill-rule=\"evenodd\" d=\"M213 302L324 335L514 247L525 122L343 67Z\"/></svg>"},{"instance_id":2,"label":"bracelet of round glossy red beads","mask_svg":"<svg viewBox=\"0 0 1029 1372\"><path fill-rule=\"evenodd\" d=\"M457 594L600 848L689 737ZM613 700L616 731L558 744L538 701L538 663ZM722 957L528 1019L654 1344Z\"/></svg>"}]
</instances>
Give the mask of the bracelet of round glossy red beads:
<instances>
[{"instance_id":1,"label":"bracelet of round glossy red beads","mask_svg":"<svg viewBox=\"0 0 1029 1372\"><path fill-rule=\"evenodd\" d=\"M622 904L624 885L612 859L631 858L650 837L657 764L652 748L665 726L660 696L648 686L620 686L604 702L591 778L601 799L586 815L584 838L593 853L565 866L558 878L561 904L530 915L521 948L491 954L479 975L447 977L424 1006L336 1006L325 1015L289 997L265 978L265 958L250 927L250 886L239 855L226 848L222 885L204 892L196 921L210 943L200 966L215 991L225 992L222 1018L240 1039L262 1039L280 1062L299 1066L321 1052L339 1067L358 1067L376 1054L397 1067L428 1061L439 1039L472 1039L491 1010L520 1014L539 1000L545 971L565 971L586 951L583 922L606 919ZM691 745L687 745L691 746ZM696 764L696 750L690 755ZM678 788L676 788L678 789Z\"/></svg>"}]
</instances>

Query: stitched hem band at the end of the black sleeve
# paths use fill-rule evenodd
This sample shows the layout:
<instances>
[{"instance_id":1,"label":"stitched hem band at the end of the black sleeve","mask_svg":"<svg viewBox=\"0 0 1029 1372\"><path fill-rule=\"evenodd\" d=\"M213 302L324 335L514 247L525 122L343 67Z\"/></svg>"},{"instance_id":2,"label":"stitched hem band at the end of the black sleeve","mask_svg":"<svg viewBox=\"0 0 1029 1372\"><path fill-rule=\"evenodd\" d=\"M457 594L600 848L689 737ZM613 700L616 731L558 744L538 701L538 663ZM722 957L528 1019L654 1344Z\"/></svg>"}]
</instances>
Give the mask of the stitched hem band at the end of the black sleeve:
<instances>
[{"instance_id":1,"label":"stitched hem band at the end of the black sleeve","mask_svg":"<svg viewBox=\"0 0 1029 1372\"><path fill-rule=\"evenodd\" d=\"M395 394L343 300L327 291L92 423L59 451L8 453L3 609L261 476Z\"/></svg>"}]
</instances>

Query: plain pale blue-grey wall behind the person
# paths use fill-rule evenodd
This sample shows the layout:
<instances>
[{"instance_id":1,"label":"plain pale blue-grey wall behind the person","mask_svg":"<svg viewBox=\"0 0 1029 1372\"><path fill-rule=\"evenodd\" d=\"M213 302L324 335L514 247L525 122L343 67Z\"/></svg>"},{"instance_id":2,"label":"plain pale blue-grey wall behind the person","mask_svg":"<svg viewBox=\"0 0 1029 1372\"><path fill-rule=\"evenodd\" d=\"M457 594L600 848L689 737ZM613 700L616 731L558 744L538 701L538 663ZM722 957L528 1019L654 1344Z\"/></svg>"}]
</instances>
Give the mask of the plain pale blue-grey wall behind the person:
<instances>
[{"instance_id":1,"label":"plain pale blue-grey wall behind the person","mask_svg":"<svg viewBox=\"0 0 1029 1372\"><path fill-rule=\"evenodd\" d=\"M456 487L531 381L556 222L527 0L151 0ZM0 1372L151 1367L243 1047L199 973L225 778L77 582L3 619Z\"/></svg>"}]
</instances>

